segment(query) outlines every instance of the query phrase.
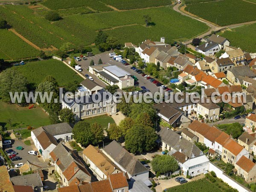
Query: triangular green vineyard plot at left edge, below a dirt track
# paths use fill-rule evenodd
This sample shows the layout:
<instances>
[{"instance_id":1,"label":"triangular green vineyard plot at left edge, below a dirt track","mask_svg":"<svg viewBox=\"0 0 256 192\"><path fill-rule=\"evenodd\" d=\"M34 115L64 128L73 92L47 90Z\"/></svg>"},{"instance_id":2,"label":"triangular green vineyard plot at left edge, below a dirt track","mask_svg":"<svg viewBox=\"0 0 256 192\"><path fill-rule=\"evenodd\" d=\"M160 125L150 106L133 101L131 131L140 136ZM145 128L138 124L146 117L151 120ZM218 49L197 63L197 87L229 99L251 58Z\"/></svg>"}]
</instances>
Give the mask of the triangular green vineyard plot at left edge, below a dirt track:
<instances>
[{"instance_id":1,"label":"triangular green vineyard plot at left edge, below a dirt track","mask_svg":"<svg viewBox=\"0 0 256 192\"><path fill-rule=\"evenodd\" d=\"M0 29L0 37L0 58L4 60L36 58L40 54L37 49L31 47L11 31Z\"/></svg>"}]
</instances>

